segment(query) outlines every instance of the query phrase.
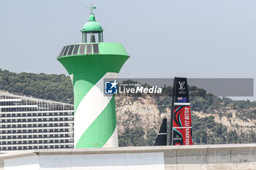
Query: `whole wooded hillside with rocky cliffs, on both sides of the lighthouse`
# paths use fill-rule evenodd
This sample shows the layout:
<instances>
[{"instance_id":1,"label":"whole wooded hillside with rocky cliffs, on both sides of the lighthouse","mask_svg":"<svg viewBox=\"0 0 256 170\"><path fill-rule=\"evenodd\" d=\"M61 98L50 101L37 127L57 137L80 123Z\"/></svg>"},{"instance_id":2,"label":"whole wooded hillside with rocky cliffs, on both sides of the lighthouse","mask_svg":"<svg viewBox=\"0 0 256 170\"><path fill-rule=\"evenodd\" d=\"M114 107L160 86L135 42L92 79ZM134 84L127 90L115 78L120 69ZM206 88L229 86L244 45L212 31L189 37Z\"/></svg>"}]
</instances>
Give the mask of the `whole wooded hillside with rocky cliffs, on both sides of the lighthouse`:
<instances>
[{"instance_id":1,"label":"whole wooded hillside with rocky cliffs, on both sides of the lighthouse","mask_svg":"<svg viewBox=\"0 0 256 170\"><path fill-rule=\"evenodd\" d=\"M64 74L18 74L0 69L0 90L73 103L72 82ZM116 96L120 146L154 145L162 118L167 117L170 122L172 90L171 86L165 86L162 96ZM195 144L256 142L256 101L219 98L195 86L189 87L189 95Z\"/></svg>"}]
</instances>

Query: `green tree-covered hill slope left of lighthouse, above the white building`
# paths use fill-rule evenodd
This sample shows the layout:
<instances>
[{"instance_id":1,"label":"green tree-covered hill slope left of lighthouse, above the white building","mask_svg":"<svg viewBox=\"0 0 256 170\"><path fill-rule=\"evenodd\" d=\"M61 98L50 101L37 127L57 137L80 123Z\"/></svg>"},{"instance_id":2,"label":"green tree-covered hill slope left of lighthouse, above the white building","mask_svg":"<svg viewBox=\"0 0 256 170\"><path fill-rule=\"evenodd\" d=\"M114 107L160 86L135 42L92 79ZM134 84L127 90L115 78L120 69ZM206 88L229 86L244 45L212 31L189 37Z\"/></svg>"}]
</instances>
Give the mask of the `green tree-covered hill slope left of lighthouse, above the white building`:
<instances>
[{"instance_id":1,"label":"green tree-covered hill slope left of lighthouse, above the white building","mask_svg":"<svg viewBox=\"0 0 256 170\"><path fill-rule=\"evenodd\" d=\"M64 74L20 74L0 69L0 90L18 95L73 103L72 83Z\"/></svg>"}]
</instances>

